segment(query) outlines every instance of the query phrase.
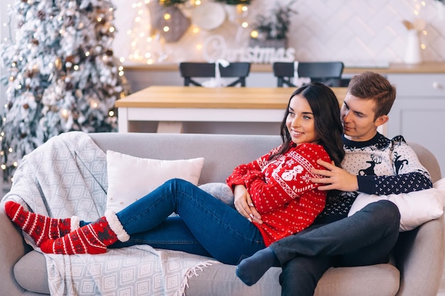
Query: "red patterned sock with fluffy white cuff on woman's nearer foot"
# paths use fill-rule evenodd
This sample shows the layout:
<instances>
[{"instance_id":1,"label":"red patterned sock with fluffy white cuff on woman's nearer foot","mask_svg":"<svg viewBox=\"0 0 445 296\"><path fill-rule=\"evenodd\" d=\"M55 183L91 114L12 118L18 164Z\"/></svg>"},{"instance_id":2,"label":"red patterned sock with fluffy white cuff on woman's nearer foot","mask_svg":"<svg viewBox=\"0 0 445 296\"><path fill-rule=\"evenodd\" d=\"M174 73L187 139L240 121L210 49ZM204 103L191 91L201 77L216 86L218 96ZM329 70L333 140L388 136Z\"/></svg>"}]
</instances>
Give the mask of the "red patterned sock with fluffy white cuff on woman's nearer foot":
<instances>
[{"instance_id":1,"label":"red patterned sock with fluffy white cuff on woman's nearer foot","mask_svg":"<svg viewBox=\"0 0 445 296\"><path fill-rule=\"evenodd\" d=\"M54 254L100 254L117 240L128 241L129 235L122 228L116 214L106 212L105 216L91 224L76 229L59 238L41 243L43 253Z\"/></svg>"}]
</instances>

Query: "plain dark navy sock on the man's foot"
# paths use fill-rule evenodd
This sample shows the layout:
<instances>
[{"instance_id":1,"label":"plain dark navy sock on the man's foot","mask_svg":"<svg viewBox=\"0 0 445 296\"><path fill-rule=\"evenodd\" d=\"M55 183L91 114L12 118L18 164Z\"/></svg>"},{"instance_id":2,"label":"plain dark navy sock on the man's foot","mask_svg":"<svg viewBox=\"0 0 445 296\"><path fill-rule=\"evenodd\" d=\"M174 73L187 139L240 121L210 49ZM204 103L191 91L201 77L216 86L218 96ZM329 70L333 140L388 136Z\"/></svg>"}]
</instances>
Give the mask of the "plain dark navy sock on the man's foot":
<instances>
[{"instance_id":1,"label":"plain dark navy sock on the man's foot","mask_svg":"<svg viewBox=\"0 0 445 296\"><path fill-rule=\"evenodd\" d=\"M254 285L269 268L278 265L279 260L272 248L264 248L245 258L237 266L237 277L248 286Z\"/></svg>"}]
</instances>

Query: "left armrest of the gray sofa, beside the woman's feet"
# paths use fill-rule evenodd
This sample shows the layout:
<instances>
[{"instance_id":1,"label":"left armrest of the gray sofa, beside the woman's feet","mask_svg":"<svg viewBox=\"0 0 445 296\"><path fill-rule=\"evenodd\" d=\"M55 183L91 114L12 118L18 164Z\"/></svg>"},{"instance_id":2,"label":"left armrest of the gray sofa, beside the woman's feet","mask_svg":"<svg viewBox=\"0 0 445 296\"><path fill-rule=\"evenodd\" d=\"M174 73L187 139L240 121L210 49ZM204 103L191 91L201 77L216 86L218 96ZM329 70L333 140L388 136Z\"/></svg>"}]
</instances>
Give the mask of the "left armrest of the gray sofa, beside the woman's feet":
<instances>
[{"instance_id":1,"label":"left armrest of the gray sofa, beside the woman's feet","mask_svg":"<svg viewBox=\"0 0 445 296\"><path fill-rule=\"evenodd\" d=\"M8 295L23 295L23 288L14 278L14 265L31 250L21 230L16 227L4 211L4 202L0 204L0 291L8 291Z\"/></svg>"}]
</instances>

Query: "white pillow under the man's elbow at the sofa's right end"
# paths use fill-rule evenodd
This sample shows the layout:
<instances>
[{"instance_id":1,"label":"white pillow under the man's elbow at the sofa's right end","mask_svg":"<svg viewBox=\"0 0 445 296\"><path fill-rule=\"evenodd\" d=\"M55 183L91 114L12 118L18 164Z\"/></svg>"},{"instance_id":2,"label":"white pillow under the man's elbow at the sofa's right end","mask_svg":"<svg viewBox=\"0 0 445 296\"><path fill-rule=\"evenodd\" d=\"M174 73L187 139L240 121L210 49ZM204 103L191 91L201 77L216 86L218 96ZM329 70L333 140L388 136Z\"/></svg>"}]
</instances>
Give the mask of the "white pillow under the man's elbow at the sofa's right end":
<instances>
[{"instance_id":1,"label":"white pillow under the man's elbow at the sofa's right end","mask_svg":"<svg viewBox=\"0 0 445 296\"><path fill-rule=\"evenodd\" d=\"M353 202L348 216L363 209L371 202L387 199L394 202L400 211L400 231L408 231L444 213L443 193L437 188L401 194L375 195L360 193Z\"/></svg>"}]
</instances>

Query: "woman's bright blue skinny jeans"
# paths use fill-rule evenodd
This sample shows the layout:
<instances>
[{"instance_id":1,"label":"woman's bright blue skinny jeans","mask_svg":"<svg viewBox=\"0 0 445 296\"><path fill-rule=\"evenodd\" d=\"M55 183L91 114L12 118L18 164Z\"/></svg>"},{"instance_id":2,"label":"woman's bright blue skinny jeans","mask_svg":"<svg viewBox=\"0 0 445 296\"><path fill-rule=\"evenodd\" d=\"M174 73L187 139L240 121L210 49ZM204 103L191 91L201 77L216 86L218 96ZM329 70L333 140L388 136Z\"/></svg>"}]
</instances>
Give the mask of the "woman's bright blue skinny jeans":
<instances>
[{"instance_id":1,"label":"woman's bright blue skinny jeans","mask_svg":"<svg viewBox=\"0 0 445 296\"><path fill-rule=\"evenodd\" d=\"M178 216L170 216L176 213ZM147 244L237 264L264 248L254 224L235 209L181 179L165 182L117 213L130 240L110 248Z\"/></svg>"}]
</instances>

